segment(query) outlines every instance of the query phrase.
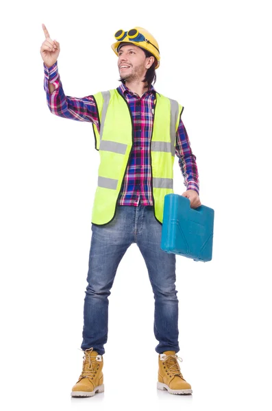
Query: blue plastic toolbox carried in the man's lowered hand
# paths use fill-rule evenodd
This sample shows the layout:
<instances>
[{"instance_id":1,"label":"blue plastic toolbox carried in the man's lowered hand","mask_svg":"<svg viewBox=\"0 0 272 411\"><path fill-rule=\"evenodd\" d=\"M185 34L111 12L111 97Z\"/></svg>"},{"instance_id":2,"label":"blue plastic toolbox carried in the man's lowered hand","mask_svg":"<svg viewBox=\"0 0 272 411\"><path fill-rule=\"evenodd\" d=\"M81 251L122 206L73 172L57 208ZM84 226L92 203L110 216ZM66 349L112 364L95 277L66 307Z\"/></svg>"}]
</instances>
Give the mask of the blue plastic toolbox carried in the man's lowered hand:
<instances>
[{"instance_id":1,"label":"blue plastic toolbox carried in the man's lowered hand","mask_svg":"<svg viewBox=\"0 0 272 411\"><path fill-rule=\"evenodd\" d=\"M214 210L190 208L190 200L178 194L164 197L161 249L194 261L212 260Z\"/></svg>"}]
</instances>

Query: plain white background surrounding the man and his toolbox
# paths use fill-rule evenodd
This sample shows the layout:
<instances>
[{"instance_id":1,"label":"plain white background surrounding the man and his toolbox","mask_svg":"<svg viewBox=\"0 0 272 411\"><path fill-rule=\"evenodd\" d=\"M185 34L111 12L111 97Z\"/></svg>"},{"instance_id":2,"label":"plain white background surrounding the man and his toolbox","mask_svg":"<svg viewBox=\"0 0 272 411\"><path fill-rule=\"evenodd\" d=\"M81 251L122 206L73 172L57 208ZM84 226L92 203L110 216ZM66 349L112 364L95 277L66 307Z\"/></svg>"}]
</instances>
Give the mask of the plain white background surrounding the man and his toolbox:
<instances>
[{"instance_id":1,"label":"plain white background surrounding the man and his toolbox","mask_svg":"<svg viewBox=\"0 0 272 411\"><path fill-rule=\"evenodd\" d=\"M117 29L139 25L158 40L155 87L184 105L201 203L215 212L212 261L177 256L178 356L192 396L156 389L153 292L134 244L109 297L105 392L70 397L82 371L99 153L90 123L47 108L42 23L60 42L74 97L119 86ZM1 408L271 410L271 73L269 1L5 3ZM174 191L185 189L175 158Z\"/></svg>"}]
</instances>

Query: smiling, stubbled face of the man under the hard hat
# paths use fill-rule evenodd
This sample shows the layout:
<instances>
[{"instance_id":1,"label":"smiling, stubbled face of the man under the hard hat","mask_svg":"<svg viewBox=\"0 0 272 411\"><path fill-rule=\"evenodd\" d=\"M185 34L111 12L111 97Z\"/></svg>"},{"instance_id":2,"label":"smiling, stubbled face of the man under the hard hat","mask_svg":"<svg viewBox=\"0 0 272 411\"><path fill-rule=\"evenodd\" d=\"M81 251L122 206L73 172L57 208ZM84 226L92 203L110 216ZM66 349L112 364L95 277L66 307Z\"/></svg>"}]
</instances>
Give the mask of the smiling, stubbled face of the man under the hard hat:
<instances>
[{"instance_id":1,"label":"smiling, stubbled face of the man under the hard hat","mask_svg":"<svg viewBox=\"0 0 272 411\"><path fill-rule=\"evenodd\" d=\"M133 44L122 46L118 56L120 77L129 82L142 80L152 64L151 58L146 58L145 52Z\"/></svg>"}]
</instances>

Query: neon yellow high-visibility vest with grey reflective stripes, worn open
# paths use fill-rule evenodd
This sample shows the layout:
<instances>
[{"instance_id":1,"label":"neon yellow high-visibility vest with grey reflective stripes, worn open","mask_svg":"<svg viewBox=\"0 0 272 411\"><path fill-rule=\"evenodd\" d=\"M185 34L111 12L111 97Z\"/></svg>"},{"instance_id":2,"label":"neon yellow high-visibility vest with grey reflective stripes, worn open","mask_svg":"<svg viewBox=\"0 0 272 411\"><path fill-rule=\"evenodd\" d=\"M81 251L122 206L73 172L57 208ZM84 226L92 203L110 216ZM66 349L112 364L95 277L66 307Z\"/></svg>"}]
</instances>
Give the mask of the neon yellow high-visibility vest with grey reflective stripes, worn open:
<instances>
[{"instance_id":1,"label":"neon yellow high-visibility vest with grey reflective stripes, worn open","mask_svg":"<svg viewBox=\"0 0 272 411\"><path fill-rule=\"evenodd\" d=\"M100 153L98 183L92 207L92 223L106 225L114 219L116 205L134 143L132 112L118 89L93 95L99 128L92 123L95 149ZM164 196L173 193L175 136L183 107L156 92L151 136L151 187L154 216L162 224Z\"/></svg>"}]
</instances>

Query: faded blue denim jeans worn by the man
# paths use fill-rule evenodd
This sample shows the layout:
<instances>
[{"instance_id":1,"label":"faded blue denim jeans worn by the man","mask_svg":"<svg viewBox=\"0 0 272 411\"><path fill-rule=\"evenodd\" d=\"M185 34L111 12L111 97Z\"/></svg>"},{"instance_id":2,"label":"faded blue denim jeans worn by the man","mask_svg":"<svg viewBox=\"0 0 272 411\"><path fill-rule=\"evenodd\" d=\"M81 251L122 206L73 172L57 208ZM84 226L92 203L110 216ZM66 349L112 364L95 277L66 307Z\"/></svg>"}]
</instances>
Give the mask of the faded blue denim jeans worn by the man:
<instances>
[{"instance_id":1,"label":"faded blue denim jeans worn by the man","mask_svg":"<svg viewBox=\"0 0 272 411\"><path fill-rule=\"evenodd\" d=\"M178 299L175 289L175 254L160 248L162 225L153 206L116 206L114 219L105 226L92 224L84 327L81 349L93 347L105 353L108 340L108 296L116 270L128 247L136 242L145 259L155 299L153 331L157 353L180 351L178 343ZM135 264L135 262L132 262Z\"/></svg>"}]
</instances>

